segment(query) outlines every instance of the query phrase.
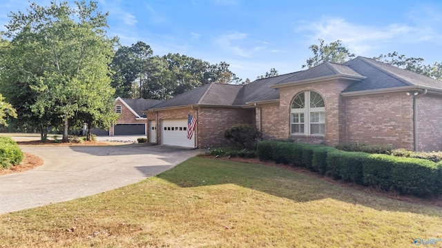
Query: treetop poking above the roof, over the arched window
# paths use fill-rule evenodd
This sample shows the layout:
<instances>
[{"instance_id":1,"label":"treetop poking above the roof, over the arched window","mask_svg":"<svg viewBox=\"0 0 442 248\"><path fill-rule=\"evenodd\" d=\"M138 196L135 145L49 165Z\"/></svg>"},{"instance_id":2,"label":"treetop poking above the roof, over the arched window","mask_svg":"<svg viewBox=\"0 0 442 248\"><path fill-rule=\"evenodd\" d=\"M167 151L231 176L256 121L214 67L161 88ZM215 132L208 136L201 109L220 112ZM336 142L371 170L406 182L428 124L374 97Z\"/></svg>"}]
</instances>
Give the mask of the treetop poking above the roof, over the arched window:
<instances>
[{"instance_id":1,"label":"treetop poking above the roof, over the arched window","mask_svg":"<svg viewBox=\"0 0 442 248\"><path fill-rule=\"evenodd\" d=\"M312 68L325 61L345 63L356 56L350 53L349 50L342 45L340 40L325 45L323 39L318 39L318 41L319 45L314 44L309 46L314 56L307 59L307 64L302 65L302 68Z\"/></svg>"}]
</instances>

